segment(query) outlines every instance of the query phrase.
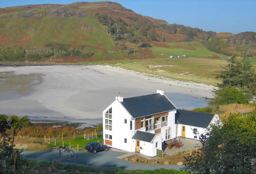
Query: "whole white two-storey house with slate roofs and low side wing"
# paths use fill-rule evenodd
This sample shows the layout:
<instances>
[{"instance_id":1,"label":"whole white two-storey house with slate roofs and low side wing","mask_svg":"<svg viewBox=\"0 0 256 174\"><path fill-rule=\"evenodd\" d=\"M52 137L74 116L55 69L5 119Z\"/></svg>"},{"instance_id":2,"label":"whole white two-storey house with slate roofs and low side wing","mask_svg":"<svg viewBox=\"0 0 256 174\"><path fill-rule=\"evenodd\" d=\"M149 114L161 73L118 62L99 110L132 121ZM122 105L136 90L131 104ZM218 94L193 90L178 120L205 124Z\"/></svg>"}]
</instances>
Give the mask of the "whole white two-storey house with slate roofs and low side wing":
<instances>
[{"instance_id":1,"label":"whole white two-storey house with slate roofs and low side wing","mask_svg":"<svg viewBox=\"0 0 256 174\"><path fill-rule=\"evenodd\" d=\"M162 142L174 137L198 139L218 115L177 109L164 95L156 94L116 100L103 111L104 144L129 152L156 156Z\"/></svg>"}]
</instances>

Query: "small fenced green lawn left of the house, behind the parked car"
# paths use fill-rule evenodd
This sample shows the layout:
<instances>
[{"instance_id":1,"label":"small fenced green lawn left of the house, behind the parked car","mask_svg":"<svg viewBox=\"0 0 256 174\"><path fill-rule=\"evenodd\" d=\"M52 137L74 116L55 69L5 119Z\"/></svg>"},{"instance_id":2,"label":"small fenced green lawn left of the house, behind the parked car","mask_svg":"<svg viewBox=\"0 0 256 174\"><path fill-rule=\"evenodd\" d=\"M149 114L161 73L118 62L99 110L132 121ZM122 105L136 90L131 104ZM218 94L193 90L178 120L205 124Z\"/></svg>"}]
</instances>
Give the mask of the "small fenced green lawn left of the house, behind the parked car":
<instances>
[{"instance_id":1,"label":"small fenced green lawn left of the house, behind the parked car","mask_svg":"<svg viewBox=\"0 0 256 174\"><path fill-rule=\"evenodd\" d=\"M70 142L71 148L77 149L77 145L79 145L79 148L84 148L87 143L97 142L98 140L102 143L102 134L99 134L98 138L90 140L84 140L84 137L78 137L76 139L66 139L64 140L64 146L69 148ZM54 145L54 142L51 142L51 144ZM62 146L62 141L56 141L56 146Z\"/></svg>"}]
</instances>

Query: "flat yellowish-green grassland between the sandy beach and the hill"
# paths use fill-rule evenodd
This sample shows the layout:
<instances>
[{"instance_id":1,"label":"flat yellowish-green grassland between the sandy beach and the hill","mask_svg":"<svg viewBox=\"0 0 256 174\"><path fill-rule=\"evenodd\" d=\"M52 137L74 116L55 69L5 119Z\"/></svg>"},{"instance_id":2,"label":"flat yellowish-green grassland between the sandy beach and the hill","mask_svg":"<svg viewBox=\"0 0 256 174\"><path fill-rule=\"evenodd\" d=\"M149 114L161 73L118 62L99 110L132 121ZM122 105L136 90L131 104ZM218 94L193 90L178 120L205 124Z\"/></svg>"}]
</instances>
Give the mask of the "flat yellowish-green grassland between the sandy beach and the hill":
<instances>
[{"instance_id":1,"label":"flat yellowish-green grassland between the sandy beach and the hill","mask_svg":"<svg viewBox=\"0 0 256 174\"><path fill-rule=\"evenodd\" d=\"M145 72L151 75L216 85L216 71L226 66L227 62L202 58L160 58L160 59L123 59L110 61L84 62L84 64L120 66L128 70Z\"/></svg>"}]
</instances>

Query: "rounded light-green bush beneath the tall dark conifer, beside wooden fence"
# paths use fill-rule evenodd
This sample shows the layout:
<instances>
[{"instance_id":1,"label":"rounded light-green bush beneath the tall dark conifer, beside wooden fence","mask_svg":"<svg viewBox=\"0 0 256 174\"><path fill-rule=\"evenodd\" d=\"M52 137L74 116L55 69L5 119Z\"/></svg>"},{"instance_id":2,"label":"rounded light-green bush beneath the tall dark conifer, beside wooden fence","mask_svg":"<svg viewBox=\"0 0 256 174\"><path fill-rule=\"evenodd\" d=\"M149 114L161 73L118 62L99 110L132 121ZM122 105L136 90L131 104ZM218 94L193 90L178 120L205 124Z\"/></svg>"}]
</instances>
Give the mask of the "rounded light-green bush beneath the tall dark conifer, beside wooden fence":
<instances>
[{"instance_id":1,"label":"rounded light-green bush beneath the tall dark conifer, beside wooden fence","mask_svg":"<svg viewBox=\"0 0 256 174\"><path fill-rule=\"evenodd\" d=\"M214 92L215 98L210 99L209 104L211 106L220 106L224 104L245 104L248 103L250 98L244 95L243 92L237 90L236 88L225 88L222 90L217 90Z\"/></svg>"}]
</instances>

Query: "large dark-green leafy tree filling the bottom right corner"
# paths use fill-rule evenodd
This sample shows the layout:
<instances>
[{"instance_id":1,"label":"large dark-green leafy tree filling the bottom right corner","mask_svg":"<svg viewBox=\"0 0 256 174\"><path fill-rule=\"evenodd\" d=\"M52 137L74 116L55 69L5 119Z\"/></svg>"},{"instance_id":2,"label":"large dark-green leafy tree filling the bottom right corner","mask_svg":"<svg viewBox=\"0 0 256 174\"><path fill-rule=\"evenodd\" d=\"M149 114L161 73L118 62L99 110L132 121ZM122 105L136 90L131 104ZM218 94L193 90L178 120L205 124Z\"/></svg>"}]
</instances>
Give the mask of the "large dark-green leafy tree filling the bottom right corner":
<instances>
[{"instance_id":1,"label":"large dark-green leafy tree filling the bottom right corner","mask_svg":"<svg viewBox=\"0 0 256 174\"><path fill-rule=\"evenodd\" d=\"M200 135L202 146L185 158L185 170L199 174L249 174L256 159L256 112L232 114Z\"/></svg>"}]
</instances>

